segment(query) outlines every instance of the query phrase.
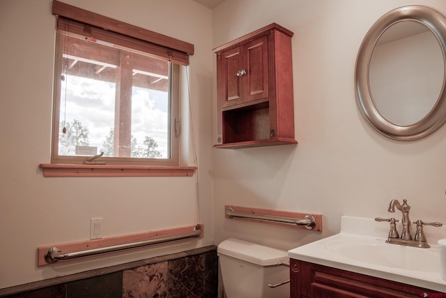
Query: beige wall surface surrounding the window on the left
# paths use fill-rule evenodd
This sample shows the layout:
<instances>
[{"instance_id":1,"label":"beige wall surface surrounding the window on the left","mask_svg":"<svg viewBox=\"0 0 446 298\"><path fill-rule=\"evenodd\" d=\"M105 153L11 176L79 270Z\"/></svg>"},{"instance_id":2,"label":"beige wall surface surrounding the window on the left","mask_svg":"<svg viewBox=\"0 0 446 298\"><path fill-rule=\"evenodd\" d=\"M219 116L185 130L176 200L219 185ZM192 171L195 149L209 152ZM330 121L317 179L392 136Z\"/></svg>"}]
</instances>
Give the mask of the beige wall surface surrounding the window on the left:
<instances>
[{"instance_id":1,"label":"beige wall surface surrounding the window on the left","mask_svg":"<svg viewBox=\"0 0 446 298\"><path fill-rule=\"evenodd\" d=\"M199 154L200 222L205 237L70 264L36 266L38 246L89 239L90 218L104 218L103 237L194 225L196 179L43 177L38 165L49 163L52 119L52 1L1 0L0 288L213 243L209 149L211 10L183 0L62 1L194 44L189 78ZM194 165L194 160L189 158L188 163Z\"/></svg>"}]
</instances>

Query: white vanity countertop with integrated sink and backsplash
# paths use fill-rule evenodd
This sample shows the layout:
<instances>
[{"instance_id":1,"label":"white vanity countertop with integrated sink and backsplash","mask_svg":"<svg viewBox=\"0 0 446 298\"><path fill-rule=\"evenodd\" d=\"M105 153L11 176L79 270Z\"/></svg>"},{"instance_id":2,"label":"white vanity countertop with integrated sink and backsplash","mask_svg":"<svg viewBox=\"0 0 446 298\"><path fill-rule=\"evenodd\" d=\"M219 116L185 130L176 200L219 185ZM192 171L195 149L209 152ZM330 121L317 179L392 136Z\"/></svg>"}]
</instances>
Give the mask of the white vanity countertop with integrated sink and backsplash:
<instances>
[{"instance_id":1,"label":"white vanity countertop with integrated sink and backsplash","mask_svg":"<svg viewBox=\"0 0 446 298\"><path fill-rule=\"evenodd\" d=\"M426 237L430 248L417 248L385 242L388 226L374 218L342 216L341 232L293 248L291 259L366 274L421 288L446 292L441 278L440 253L436 243L446 238L445 228ZM441 237L441 238L439 238Z\"/></svg>"}]
</instances>

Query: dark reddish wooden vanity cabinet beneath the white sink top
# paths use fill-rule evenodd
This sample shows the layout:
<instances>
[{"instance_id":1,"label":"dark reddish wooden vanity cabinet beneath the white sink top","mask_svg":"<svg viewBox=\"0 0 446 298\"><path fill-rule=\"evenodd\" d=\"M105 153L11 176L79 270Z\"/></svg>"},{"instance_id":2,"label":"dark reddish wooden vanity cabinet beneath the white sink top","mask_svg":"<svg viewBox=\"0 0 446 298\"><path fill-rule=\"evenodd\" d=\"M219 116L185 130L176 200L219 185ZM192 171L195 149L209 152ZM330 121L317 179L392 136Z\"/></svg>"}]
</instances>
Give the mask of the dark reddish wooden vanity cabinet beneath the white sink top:
<instances>
[{"instance_id":1,"label":"dark reddish wooden vanity cabinet beneath the white sink top","mask_svg":"<svg viewBox=\"0 0 446 298\"><path fill-rule=\"evenodd\" d=\"M290 260L291 298L440 297L429 289L357 274L300 260ZM443 297L443 296L441 296Z\"/></svg>"}]
</instances>

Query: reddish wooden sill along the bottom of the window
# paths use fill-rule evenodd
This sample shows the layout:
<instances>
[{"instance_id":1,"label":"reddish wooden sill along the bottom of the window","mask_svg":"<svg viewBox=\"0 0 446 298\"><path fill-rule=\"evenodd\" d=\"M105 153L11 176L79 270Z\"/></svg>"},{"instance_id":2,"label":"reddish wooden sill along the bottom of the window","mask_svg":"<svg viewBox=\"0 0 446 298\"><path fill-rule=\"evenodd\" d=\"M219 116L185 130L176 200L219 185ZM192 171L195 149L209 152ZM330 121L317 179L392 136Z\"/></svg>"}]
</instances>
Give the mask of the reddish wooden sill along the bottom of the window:
<instances>
[{"instance_id":1,"label":"reddish wooden sill along the bottom of the window","mask_svg":"<svg viewBox=\"0 0 446 298\"><path fill-rule=\"evenodd\" d=\"M197 167L41 163L45 177L192 177Z\"/></svg>"}]
</instances>

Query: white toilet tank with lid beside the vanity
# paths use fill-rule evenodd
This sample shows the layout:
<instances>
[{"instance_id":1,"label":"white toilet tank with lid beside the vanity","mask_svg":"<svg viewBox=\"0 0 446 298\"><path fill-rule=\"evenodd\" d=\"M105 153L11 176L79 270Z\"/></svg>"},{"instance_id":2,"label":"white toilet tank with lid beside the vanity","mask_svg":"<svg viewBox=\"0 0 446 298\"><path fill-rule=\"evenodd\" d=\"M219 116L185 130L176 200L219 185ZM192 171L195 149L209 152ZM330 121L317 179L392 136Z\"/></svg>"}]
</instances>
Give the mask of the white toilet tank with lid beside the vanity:
<instances>
[{"instance_id":1,"label":"white toilet tank with lid beside the vanity","mask_svg":"<svg viewBox=\"0 0 446 298\"><path fill-rule=\"evenodd\" d=\"M240 239L227 239L217 246L224 292L227 298L286 298L290 285L268 287L290 279L286 251Z\"/></svg>"}]
</instances>

